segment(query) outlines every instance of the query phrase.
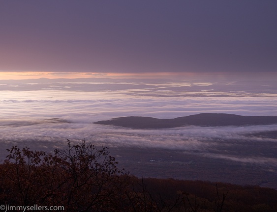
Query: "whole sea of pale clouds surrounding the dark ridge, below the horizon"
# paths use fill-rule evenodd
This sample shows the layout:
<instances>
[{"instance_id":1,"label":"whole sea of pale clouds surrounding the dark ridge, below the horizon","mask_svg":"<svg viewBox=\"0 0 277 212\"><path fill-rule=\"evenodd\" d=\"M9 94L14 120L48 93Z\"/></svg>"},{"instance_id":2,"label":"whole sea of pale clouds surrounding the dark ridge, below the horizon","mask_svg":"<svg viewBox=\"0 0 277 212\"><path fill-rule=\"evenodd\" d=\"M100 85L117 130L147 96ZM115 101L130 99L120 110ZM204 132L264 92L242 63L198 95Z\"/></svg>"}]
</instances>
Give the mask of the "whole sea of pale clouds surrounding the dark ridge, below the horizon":
<instances>
[{"instance_id":1,"label":"whole sea of pale clouds surrounding the dark ridge, below the horizon","mask_svg":"<svg viewBox=\"0 0 277 212\"><path fill-rule=\"evenodd\" d=\"M277 166L277 125L133 130L93 124L122 116L175 118L202 112L277 116L277 85L268 81L181 79L0 80L0 156L12 145L53 151L66 139L114 148L187 154Z\"/></svg>"}]
</instances>

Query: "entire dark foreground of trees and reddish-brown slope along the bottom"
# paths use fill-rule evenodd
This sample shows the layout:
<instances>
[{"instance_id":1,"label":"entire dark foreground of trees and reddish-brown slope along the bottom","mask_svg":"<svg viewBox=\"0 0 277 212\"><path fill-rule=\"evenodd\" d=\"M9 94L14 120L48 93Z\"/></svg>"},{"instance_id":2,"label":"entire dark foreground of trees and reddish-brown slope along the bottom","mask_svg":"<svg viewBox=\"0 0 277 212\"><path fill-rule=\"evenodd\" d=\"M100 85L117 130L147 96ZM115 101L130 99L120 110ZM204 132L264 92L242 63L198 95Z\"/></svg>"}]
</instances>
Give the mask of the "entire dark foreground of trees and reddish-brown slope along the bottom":
<instances>
[{"instance_id":1,"label":"entire dark foreground of trees and reddish-brown slope along the bottom","mask_svg":"<svg viewBox=\"0 0 277 212\"><path fill-rule=\"evenodd\" d=\"M16 146L8 152L0 164L3 205L63 206L67 212L277 211L275 189L137 178L119 169L107 148L85 141L68 141L53 154Z\"/></svg>"}]
</instances>

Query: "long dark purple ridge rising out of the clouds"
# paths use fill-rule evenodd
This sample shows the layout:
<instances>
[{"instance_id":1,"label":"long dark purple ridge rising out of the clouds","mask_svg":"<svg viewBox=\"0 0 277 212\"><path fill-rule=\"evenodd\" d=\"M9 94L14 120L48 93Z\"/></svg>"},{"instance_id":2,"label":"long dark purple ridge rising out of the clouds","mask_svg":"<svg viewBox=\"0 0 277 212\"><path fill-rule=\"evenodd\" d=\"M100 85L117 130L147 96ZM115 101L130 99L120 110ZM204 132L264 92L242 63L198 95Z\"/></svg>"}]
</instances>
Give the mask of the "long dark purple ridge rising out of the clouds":
<instances>
[{"instance_id":1,"label":"long dark purple ridge rising out of the clouds","mask_svg":"<svg viewBox=\"0 0 277 212\"><path fill-rule=\"evenodd\" d=\"M277 116L241 116L226 113L200 113L174 119L157 119L142 116L127 116L112 120L97 121L94 124L114 125L133 129L175 128L196 126L245 126L277 124Z\"/></svg>"}]
</instances>

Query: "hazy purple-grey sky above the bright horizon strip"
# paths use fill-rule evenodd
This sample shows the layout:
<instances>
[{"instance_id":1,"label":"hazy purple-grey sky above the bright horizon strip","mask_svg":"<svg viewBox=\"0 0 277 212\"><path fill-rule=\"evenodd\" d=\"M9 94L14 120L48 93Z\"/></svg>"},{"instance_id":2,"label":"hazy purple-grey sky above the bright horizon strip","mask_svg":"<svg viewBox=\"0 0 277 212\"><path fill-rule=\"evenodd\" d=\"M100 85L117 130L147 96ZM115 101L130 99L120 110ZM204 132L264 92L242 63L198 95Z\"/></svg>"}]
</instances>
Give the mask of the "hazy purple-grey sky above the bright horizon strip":
<instances>
[{"instance_id":1,"label":"hazy purple-grey sky above the bright horizon strip","mask_svg":"<svg viewBox=\"0 0 277 212\"><path fill-rule=\"evenodd\" d=\"M276 0L2 0L0 71L277 72Z\"/></svg>"}]
</instances>

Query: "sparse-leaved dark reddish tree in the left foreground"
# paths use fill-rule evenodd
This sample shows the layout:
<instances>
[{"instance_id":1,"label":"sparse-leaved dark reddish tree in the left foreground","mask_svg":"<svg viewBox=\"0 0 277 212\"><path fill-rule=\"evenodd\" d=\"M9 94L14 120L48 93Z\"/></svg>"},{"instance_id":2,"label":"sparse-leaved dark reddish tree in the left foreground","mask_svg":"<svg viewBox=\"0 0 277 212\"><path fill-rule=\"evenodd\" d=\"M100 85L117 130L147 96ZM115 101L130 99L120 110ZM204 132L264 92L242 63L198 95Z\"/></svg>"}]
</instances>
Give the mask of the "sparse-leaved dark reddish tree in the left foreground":
<instances>
[{"instance_id":1,"label":"sparse-leaved dark reddish tree in the left foreground","mask_svg":"<svg viewBox=\"0 0 277 212\"><path fill-rule=\"evenodd\" d=\"M54 155L13 146L1 164L7 204L63 206L64 211L118 211L128 173L107 148L82 141Z\"/></svg>"}]
</instances>

